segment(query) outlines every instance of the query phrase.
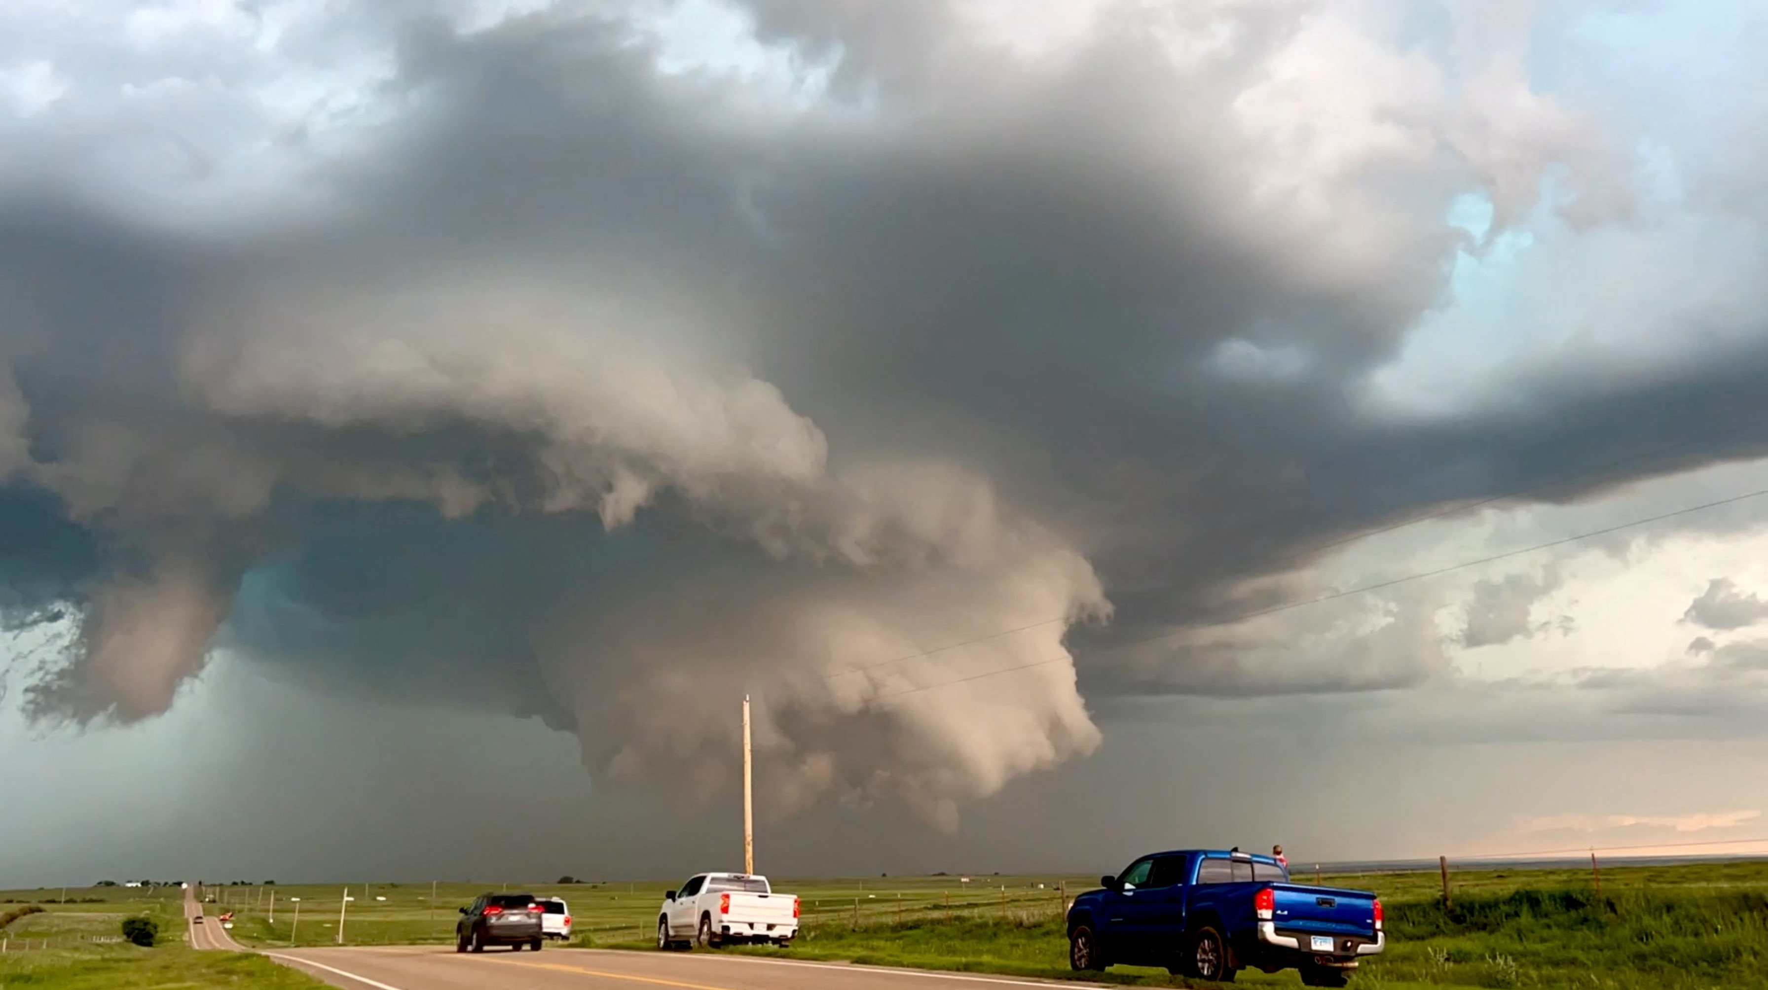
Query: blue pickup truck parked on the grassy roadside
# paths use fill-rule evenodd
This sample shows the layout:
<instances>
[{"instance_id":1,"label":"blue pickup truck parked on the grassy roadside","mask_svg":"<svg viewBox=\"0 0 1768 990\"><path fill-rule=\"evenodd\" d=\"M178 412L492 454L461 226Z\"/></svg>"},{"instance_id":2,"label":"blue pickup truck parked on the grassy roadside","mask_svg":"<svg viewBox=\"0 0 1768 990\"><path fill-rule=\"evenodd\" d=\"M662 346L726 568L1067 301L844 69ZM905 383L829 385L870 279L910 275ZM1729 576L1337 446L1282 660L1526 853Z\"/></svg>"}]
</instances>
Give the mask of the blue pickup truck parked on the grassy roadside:
<instances>
[{"instance_id":1,"label":"blue pickup truck parked on the grassy roadside","mask_svg":"<svg viewBox=\"0 0 1768 990\"><path fill-rule=\"evenodd\" d=\"M1358 960L1386 946L1376 895L1291 884L1269 856L1156 852L1100 884L1068 910L1077 971L1162 965L1229 981L1245 967L1299 969L1308 986L1344 986Z\"/></svg>"}]
</instances>

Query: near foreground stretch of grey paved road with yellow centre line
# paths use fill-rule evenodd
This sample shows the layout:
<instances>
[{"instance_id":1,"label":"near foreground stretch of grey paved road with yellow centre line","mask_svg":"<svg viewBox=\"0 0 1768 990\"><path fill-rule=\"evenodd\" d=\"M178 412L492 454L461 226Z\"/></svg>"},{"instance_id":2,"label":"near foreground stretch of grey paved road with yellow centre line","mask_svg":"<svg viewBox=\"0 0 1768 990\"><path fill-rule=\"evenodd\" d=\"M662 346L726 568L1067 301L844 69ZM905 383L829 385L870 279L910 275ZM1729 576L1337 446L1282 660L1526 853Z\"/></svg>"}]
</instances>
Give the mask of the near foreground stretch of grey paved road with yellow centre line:
<instances>
[{"instance_id":1,"label":"near foreground stretch of grey paved road with yellow centre line","mask_svg":"<svg viewBox=\"0 0 1768 990\"><path fill-rule=\"evenodd\" d=\"M1087 986L714 953L605 949L486 951L453 946L269 949L271 958L347 990L1008 990Z\"/></svg>"}]
</instances>

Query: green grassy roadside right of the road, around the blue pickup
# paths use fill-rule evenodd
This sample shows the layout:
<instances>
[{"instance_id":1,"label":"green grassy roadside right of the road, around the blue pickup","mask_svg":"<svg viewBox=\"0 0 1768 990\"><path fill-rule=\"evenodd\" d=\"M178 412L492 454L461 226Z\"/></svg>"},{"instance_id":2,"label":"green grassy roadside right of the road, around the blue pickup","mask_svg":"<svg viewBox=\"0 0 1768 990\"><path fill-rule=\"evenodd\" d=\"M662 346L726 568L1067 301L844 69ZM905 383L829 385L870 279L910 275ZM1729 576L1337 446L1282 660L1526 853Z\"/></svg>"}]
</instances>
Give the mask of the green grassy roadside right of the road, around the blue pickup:
<instances>
[{"instance_id":1,"label":"green grassy roadside right of the road, around the blue pickup","mask_svg":"<svg viewBox=\"0 0 1768 990\"><path fill-rule=\"evenodd\" d=\"M1508 870L1459 873L1450 905L1429 873L1326 877L1376 889L1390 948L1353 986L1768 990L1768 863L1681 864L1588 873ZM636 948L636 942L633 944ZM1054 919L971 918L944 923L829 925L789 949L725 949L1071 979ZM1105 981L1197 985L1163 971L1112 967ZM1299 986L1296 972L1243 972L1241 985Z\"/></svg>"}]
</instances>

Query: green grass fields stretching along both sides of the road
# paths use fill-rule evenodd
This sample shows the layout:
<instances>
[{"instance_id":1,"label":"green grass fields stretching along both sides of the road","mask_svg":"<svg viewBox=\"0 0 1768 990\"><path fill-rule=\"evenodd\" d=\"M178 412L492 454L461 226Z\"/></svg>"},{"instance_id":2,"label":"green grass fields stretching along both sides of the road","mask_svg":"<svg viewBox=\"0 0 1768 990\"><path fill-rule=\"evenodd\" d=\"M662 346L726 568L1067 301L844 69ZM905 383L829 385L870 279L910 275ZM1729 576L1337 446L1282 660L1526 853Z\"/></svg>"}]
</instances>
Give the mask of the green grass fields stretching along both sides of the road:
<instances>
[{"instance_id":1,"label":"green grass fields stretching along both sides of the road","mask_svg":"<svg viewBox=\"0 0 1768 990\"><path fill-rule=\"evenodd\" d=\"M1308 877L1298 877L1307 880ZM1091 884L1086 877L879 877L868 880L778 880L803 898L804 930L792 949L727 949L801 958L916 965L1018 976L1070 978L1061 900ZM1452 875L1444 909L1432 873L1331 875L1324 882L1374 889L1386 905L1390 948L1367 962L1354 985L1542 986L1575 990L1768 990L1768 863L1685 863L1605 868L1602 893L1588 870L1482 870ZM645 948L670 884L509 884L509 889L564 896L578 944ZM504 884L350 884L345 944L447 942L454 909ZM171 974L191 986L313 986L295 974L223 953L191 953L94 944L115 935L131 912L159 912L177 928L179 891L69 891L103 903L53 903L60 891L0 891L0 900L35 900L44 914L21 918L7 937L50 937L50 949L0 956L0 986L150 986ZM318 946L338 942L343 884L210 887L209 914L235 912L233 935L246 944ZM271 898L274 893L274 923ZM129 895L134 895L133 898ZM39 900L41 898L41 900ZM301 918L295 923L299 900ZM0 909L16 907L0 903ZM210 956L207 960L194 958ZM32 962L35 960L35 962ZM80 965L106 965L118 978L74 976ZM37 969L32 969L37 967ZM124 967L124 969L118 969ZM184 969L191 967L187 974ZM44 974L28 981L21 976ZM80 981L87 979L87 981ZM281 979L278 983L276 979ZM1114 967L1112 983L1174 986L1163 971ZM1254 986L1299 986L1294 972L1245 972Z\"/></svg>"}]
</instances>

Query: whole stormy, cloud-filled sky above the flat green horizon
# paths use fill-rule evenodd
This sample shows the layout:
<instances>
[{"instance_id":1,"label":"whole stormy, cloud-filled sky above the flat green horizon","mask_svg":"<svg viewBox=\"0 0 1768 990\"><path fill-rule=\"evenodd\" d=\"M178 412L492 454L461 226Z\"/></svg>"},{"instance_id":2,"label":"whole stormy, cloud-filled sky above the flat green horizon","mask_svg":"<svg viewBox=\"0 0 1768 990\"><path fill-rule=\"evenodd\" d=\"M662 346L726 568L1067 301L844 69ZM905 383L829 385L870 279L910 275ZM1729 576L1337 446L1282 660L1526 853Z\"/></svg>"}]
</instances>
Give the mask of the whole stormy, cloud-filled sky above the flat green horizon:
<instances>
[{"instance_id":1,"label":"whole stormy, cloud-filled sky above the flat green horizon","mask_svg":"<svg viewBox=\"0 0 1768 990\"><path fill-rule=\"evenodd\" d=\"M1768 852L1764 35L9 4L0 886Z\"/></svg>"}]
</instances>

